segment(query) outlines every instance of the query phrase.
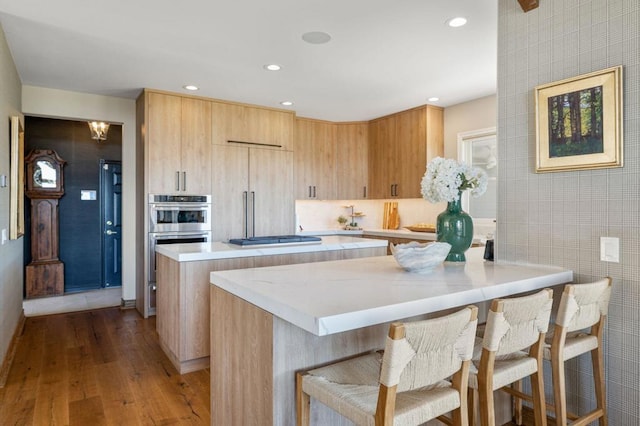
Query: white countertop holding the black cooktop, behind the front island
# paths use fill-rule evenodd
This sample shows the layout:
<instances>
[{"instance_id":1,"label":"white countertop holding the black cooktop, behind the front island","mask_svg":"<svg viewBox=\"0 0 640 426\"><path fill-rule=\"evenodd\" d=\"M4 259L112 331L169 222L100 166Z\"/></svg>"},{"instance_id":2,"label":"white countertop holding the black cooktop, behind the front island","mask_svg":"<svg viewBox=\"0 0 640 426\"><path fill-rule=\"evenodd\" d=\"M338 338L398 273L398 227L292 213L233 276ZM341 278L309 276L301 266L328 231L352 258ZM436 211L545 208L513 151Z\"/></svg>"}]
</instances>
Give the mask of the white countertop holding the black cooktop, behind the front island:
<instances>
[{"instance_id":1,"label":"white countertop holding the black cooktop, behind the front island","mask_svg":"<svg viewBox=\"0 0 640 426\"><path fill-rule=\"evenodd\" d=\"M387 242L384 240L347 235L325 235L321 238L322 241L311 243L286 243L244 247L223 242L162 244L156 246L156 252L173 260L177 260L178 262L195 262L200 260L233 259L239 257L273 256L277 254L311 253L387 246Z\"/></svg>"}]
</instances>

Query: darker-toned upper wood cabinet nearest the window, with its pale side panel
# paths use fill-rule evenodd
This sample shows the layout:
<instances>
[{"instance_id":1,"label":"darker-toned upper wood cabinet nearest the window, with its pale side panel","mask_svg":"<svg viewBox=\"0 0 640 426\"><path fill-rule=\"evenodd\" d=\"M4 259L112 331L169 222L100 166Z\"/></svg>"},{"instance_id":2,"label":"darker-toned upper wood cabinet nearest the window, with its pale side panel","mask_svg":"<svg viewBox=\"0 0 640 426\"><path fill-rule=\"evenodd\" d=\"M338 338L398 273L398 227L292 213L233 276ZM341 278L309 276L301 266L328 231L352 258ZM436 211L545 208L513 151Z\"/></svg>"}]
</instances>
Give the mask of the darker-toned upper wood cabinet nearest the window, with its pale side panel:
<instances>
[{"instance_id":1,"label":"darker-toned upper wood cabinet nearest the window, with its pale side panel","mask_svg":"<svg viewBox=\"0 0 640 426\"><path fill-rule=\"evenodd\" d=\"M444 152L444 116L429 105L369 123L370 198L417 198L427 162Z\"/></svg>"}]
</instances>

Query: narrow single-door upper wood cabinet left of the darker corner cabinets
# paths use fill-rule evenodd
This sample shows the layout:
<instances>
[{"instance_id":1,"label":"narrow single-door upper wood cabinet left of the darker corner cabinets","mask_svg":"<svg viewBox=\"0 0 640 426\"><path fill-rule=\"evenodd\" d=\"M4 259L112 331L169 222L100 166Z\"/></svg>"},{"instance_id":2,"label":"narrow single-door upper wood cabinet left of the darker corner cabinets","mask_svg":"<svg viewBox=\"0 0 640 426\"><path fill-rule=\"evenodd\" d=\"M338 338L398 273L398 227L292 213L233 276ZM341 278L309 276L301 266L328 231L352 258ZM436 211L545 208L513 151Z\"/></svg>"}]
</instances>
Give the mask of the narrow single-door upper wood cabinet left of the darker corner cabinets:
<instances>
[{"instance_id":1,"label":"narrow single-door upper wood cabinet left of the darker corner cabinets","mask_svg":"<svg viewBox=\"0 0 640 426\"><path fill-rule=\"evenodd\" d=\"M336 139L336 198L367 198L369 124L339 123Z\"/></svg>"}]
</instances>

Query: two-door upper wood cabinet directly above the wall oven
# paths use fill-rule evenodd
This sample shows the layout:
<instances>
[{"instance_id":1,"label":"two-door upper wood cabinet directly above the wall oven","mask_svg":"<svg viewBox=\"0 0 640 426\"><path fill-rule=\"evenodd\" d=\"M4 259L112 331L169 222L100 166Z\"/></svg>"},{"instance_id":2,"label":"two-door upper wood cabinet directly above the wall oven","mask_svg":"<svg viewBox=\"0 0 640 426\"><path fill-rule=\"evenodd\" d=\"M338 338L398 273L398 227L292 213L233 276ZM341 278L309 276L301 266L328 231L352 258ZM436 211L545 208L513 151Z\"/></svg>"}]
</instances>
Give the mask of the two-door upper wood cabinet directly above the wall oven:
<instances>
[{"instance_id":1,"label":"two-door upper wood cabinet directly above the wall oven","mask_svg":"<svg viewBox=\"0 0 640 426\"><path fill-rule=\"evenodd\" d=\"M211 193L211 104L145 91L147 193Z\"/></svg>"}]
</instances>

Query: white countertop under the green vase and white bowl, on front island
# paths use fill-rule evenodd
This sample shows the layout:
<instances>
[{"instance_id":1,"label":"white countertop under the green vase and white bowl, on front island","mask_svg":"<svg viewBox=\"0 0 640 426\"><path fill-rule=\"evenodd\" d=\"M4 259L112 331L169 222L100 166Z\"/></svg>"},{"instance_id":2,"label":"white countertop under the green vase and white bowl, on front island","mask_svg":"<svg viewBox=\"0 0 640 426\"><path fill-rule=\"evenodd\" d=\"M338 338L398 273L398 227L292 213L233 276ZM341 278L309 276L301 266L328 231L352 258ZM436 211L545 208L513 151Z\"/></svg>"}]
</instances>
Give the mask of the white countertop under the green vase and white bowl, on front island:
<instances>
[{"instance_id":1,"label":"white countertop under the green vase and white bowl, on front island","mask_svg":"<svg viewBox=\"0 0 640 426\"><path fill-rule=\"evenodd\" d=\"M211 283L317 336L571 282L573 272L485 262L405 272L393 256L211 273Z\"/></svg>"}]
</instances>

